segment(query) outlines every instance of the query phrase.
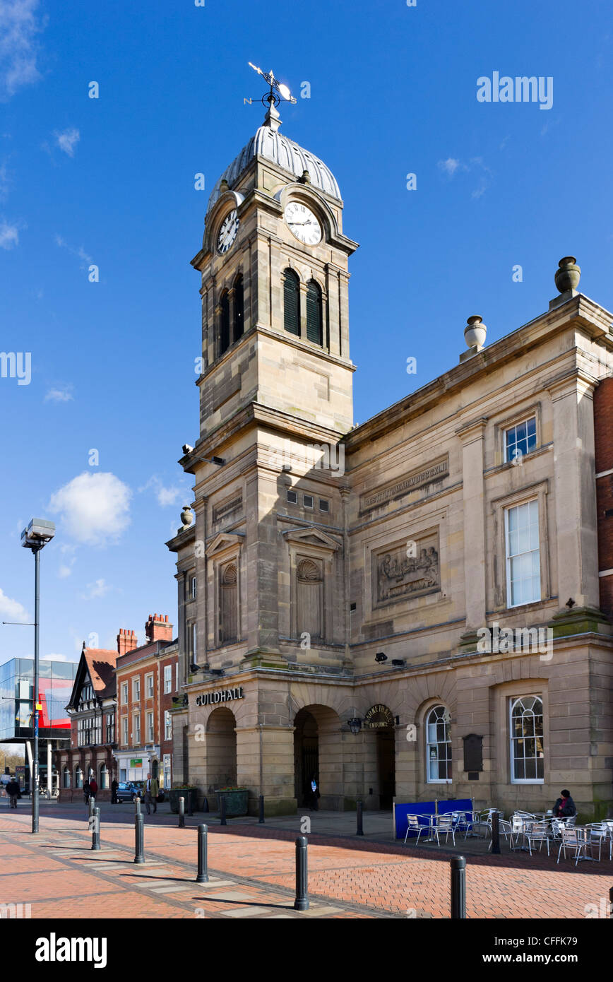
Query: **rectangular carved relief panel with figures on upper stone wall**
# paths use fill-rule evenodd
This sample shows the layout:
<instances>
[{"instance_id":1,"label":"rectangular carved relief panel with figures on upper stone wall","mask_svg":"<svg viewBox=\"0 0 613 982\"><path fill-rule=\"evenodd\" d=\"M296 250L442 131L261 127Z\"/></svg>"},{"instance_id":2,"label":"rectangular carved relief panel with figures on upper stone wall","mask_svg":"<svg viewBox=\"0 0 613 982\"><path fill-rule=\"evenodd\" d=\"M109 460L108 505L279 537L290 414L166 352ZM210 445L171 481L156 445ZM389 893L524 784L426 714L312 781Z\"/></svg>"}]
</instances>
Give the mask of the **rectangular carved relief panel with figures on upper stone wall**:
<instances>
[{"instance_id":1,"label":"rectangular carved relief panel with figures on upper stone wall","mask_svg":"<svg viewBox=\"0 0 613 982\"><path fill-rule=\"evenodd\" d=\"M436 533L381 550L373 562L375 604L430 593L440 585Z\"/></svg>"}]
</instances>

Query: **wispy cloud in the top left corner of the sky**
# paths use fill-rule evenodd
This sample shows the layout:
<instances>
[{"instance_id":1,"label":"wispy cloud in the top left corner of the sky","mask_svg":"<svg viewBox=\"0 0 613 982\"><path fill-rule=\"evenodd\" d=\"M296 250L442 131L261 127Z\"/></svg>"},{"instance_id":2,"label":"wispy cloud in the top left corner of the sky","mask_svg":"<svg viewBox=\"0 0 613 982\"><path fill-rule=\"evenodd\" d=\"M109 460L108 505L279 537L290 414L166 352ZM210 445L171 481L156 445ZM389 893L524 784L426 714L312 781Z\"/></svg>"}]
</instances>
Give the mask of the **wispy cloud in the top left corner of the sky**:
<instances>
[{"instance_id":1,"label":"wispy cloud in the top left corner of the sky","mask_svg":"<svg viewBox=\"0 0 613 982\"><path fill-rule=\"evenodd\" d=\"M38 0L0 0L0 100L40 78L35 36Z\"/></svg>"}]
</instances>

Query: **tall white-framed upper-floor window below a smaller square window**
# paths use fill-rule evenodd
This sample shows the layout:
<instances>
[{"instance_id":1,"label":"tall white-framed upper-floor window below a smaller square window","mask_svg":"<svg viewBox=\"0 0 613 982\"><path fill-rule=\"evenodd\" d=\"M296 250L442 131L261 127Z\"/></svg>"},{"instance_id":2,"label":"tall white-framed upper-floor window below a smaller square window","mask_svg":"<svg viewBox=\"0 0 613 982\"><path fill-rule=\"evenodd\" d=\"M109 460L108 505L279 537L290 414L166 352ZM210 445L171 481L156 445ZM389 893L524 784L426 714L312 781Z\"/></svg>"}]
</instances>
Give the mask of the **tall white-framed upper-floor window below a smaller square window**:
<instances>
[{"instance_id":1,"label":"tall white-framed upper-floor window below a smaller square window","mask_svg":"<svg viewBox=\"0 0 613 982\"><path fill-rule=\"evenodd\" d=\"M507 605L518 607L540 600L538 502L505 510Z\"/></svg>"}]
</instances>

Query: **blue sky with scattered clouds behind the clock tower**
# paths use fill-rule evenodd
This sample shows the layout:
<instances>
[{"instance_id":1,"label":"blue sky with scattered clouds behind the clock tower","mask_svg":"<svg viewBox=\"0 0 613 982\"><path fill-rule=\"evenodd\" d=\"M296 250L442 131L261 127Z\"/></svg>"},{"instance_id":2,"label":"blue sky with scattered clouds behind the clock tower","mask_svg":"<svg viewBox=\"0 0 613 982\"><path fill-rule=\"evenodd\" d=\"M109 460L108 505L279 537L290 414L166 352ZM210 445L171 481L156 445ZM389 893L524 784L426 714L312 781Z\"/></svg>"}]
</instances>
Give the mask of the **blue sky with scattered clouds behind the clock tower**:
<instances>
[{"instance_id":1,"label":"blue sky with scattered clouds behind the clock tower","mask_svg":"<svg viewBox=\"0 0 613 982\"><path fill-rule=\"evenodd\" d=\"M249 61L298 96L283 132L331 167L361 243L357 421L457 364L469 315L491 342L546 309L563 255L613 305L605 2L0 0L0 349L31 353L28 385L0 378L0 620L31 620L19 535L53 518L43 656L76 658L93 633L113 647L119 627L142 638L153 612L176 623L164 542L197 438L190 259L209 191L263 117ZM494 72L552 78L552 107L478 102ZM31 635L0 626L0 661Z\"/></svg>"}]
</instances>

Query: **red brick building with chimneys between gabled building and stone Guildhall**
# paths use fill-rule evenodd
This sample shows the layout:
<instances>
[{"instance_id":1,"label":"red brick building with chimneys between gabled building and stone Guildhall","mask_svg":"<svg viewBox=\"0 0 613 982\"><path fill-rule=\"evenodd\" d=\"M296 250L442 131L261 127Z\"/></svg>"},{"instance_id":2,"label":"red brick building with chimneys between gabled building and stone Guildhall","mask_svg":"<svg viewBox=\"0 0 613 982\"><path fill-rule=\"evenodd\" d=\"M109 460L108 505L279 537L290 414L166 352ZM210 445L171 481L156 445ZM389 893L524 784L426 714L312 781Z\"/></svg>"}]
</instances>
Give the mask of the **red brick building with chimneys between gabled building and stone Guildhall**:
<instances>
[{"instance_id":1,"label":"red brick building with chimneys between gabled building and stone Guildhall","mask_svg":"<svg viewBox=\"0 0 613 982\"><path fill-rule=\"evenodd\" d=\"M147 773L160 787L172 783L173 697L178 695L178 650L168 616L154 614L137 647L134 631L118 634L117 773L119 781L142 781Z\"/></svg>"}]
</instances>

